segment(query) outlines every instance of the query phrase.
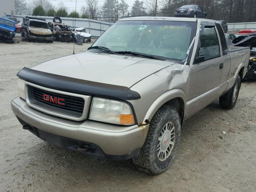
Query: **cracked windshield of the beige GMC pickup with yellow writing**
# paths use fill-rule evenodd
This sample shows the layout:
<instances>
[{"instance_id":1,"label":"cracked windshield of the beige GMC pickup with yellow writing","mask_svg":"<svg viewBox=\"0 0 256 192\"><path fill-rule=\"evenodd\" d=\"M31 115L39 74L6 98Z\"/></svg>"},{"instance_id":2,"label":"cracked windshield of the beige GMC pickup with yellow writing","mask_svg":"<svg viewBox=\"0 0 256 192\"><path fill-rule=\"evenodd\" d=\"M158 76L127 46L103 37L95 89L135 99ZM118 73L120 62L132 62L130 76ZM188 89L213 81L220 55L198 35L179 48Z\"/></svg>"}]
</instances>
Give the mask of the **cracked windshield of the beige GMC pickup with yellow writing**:
<instances>
[{"instance_id":1,"label":"cracked windshield of the beige GMC pickup with yellow writing","mask_svg":"<svg viewBox=\"0 0 256 192\"><path fill-rule=\"evenodd\" d=\"M194 22L177 21L119 21L93 46L184 60L194 25Z\"/></svg>"}]
</instances>

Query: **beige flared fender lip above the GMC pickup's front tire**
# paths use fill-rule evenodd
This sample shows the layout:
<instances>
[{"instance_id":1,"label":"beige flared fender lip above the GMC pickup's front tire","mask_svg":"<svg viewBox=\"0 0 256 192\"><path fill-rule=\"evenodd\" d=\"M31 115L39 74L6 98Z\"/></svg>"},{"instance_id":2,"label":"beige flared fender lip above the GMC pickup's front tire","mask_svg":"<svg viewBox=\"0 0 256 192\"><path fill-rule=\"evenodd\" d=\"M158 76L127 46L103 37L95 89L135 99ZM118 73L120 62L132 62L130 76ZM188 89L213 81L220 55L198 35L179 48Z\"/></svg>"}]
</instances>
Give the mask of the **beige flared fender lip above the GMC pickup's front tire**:
<instances>
[{"instance_id":1,"label":"beige flared fender lip above the GMC pickup's front tire","mask_svg":"<svg viewBox=\"0 0 256 192\"><path fill-rule=\"evenodd\" d=\"M170 90L168 92L165 92L164 94L162 94L161 96L159 96L150 106L150 108L148 109L148 112L146 113L143 122L150 122L154 116L154 114L156 113L156 111L166 102L174 99L174 98L182 98L183 102L184 102L184 116L186 114L186 110L187 110L187 104L186 104L186 94L184 92L184 90L182 89L174 89L174 90Z\"/></svg>"}]
</instances>

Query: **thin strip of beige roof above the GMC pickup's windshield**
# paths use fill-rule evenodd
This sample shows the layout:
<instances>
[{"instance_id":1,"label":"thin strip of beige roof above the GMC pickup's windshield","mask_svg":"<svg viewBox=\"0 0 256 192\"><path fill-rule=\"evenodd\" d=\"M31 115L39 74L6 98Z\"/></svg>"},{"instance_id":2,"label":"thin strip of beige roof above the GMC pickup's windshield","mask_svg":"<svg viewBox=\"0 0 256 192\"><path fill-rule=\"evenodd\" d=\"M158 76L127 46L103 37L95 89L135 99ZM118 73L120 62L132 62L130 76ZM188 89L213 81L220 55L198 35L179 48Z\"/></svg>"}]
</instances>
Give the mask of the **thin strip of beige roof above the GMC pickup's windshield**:
<instances>
[{"instance_id":1,"label":"thin strip of beige roof above the GMC pickup's windshield","mask_svg":"<svg viewBox=\"0 0 256 192\"><path fill-rule=\"evenodd\" d=\"M122 18L119 21L124 20L160 20L160 21L190 21L195 22L197 20L201 21L211 21L211 22L217 22L216 20L211 19L204 19L204 18L185 18L185 17L128 17L128 18Z\"/></svg>"}]
</instances>

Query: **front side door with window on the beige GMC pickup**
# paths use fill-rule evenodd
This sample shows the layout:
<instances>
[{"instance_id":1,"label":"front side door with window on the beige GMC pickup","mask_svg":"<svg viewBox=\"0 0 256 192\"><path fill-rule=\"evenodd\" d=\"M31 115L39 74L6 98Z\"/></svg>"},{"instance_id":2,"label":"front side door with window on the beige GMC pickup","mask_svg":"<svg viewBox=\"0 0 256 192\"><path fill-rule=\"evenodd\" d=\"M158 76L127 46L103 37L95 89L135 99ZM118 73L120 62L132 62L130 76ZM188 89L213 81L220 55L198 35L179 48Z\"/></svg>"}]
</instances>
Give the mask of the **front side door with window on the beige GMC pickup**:
<instances>
[{"instance_id":1,"label":"front side door with window on the beige GMC pickup","mask_svg":"<svg viewBox=\"0 0 256 192\"><path fill-rule=\"evenodd\" d=\"M223 71L223 57L217 29L203 24L194 63L190 64L190 89L188 94L188 114L192 116L217 99ZM207 23L208 24L208 23ZM186 118L187 118L186 117Z\"/></svg>"}]
</instances>

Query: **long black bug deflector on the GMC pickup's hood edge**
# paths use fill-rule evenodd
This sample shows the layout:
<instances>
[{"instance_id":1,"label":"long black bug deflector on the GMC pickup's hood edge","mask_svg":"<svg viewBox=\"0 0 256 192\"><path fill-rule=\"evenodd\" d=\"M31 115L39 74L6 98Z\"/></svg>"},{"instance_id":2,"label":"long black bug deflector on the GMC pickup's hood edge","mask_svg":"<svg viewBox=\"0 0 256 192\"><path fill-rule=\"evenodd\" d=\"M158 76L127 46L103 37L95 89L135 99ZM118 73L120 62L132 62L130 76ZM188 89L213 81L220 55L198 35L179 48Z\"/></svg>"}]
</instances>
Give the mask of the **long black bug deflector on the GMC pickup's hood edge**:
<instances>
[{"instance_id":1,"label":"long black bug deflector on the GMC pickup's hood edge","mask_svg":"<svg viewBox=\"0 0 256 192\"><path fill-rule=\"evenodd\" d=\"M140 99L140 94L125 86L111 85L88 80L81 80L56 74L50 74L24 67L18 77L47 88L78 94L99 96L121 100Z\"/></svg>"}]
</instances>

